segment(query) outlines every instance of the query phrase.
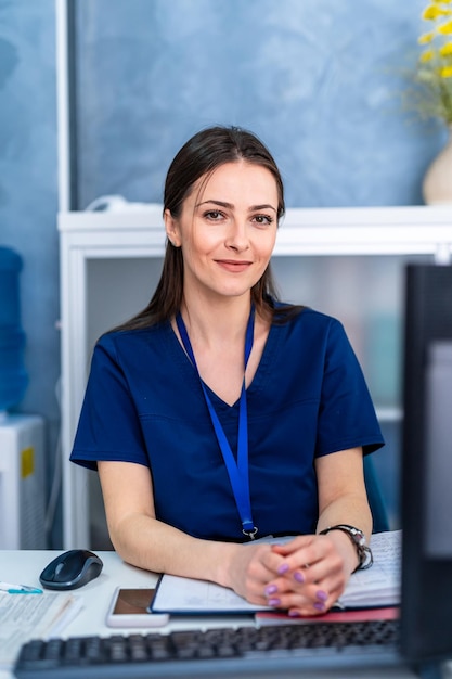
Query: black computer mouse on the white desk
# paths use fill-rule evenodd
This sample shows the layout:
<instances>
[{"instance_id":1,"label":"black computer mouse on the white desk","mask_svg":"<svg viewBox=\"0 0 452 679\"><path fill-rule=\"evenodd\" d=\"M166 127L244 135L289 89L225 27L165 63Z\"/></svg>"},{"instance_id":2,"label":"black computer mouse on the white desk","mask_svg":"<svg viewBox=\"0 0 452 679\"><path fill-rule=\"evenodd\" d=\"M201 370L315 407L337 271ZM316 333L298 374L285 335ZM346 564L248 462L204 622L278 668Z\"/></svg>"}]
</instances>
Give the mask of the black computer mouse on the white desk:
<instances>
[{"instance_id":1,"label":"black computer mouse on the white desk","mask_svg":"<svg viewBox=\"0 0 452 679\"><path fill-rule=\"evenodd\" d=\"M39 576L39 581L46 589L77 589L96 578L103 565L93 552L72 549L51 561Z\"/></svg>"}]
</instances>

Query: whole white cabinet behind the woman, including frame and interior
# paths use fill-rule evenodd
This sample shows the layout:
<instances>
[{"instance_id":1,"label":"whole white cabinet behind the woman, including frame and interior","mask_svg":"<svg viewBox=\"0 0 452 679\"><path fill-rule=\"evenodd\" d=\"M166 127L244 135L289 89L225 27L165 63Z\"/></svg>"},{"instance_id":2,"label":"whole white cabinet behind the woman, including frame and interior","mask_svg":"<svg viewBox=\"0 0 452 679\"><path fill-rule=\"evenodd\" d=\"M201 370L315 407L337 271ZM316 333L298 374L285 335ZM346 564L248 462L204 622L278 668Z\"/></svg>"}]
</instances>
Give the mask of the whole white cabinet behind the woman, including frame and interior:
<instances>
[{"instance_id":1,"label":"whole white cabinet behind the woman, including frame and interior","mask_svg":"<svg viewBox=\"0 0 452 679\"><path fill-rule=\"evenodd\" d=\"M69 463L95 338L131 317L159 278L162 206L59 216L64 547L92 547L94 474ZM273 259L282 297L339 318L382 421L400 418L403 264L452 257L452 207L288 209ZM94 526L94 528L93 528ZM95 540L94 540L95 541ZM94 545L96 549L96 547Z\"/></svg>"}]
</instances>

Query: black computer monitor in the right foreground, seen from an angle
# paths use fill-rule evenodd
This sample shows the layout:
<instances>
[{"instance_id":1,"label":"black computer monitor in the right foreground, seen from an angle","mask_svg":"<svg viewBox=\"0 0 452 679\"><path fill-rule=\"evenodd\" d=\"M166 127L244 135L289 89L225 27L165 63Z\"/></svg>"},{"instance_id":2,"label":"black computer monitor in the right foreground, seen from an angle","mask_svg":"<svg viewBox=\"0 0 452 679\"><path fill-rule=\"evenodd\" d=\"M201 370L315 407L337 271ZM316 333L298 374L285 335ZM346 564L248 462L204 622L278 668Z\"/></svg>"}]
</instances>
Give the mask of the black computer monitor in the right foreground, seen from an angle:
<instances>
[{"instance_id":1,"label":"black computer monitor in the right foreground, seen from an angle","mask_svg":"<svg viewBox=\"0 0 452 679\"><path fill-rule=\"evenodd\" d=\"M401 646L452 657L452 267L405 277Z\"/></svg>"}]
</instances>

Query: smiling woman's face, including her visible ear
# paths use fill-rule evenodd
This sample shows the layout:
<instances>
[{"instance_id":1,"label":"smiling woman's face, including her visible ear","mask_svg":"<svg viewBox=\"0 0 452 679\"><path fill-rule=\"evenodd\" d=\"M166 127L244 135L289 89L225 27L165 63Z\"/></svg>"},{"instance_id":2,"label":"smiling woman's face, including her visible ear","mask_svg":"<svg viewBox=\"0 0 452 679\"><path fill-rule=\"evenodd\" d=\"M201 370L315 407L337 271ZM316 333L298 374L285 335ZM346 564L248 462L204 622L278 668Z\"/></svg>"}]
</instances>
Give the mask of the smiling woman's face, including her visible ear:
<instances>
[{"instance_id":1,"label":"smiling woman's face, including her visible ear","mask_svg":"<svg viewBox=\"0 0 452 679\"><path fill-rule=\"evenodd\" d=\"M184 294L249 295L264 272L277 230L277 188L264 167L227 163L194 184L166 231L182 248Z\"/></svg>"}]
</instances>

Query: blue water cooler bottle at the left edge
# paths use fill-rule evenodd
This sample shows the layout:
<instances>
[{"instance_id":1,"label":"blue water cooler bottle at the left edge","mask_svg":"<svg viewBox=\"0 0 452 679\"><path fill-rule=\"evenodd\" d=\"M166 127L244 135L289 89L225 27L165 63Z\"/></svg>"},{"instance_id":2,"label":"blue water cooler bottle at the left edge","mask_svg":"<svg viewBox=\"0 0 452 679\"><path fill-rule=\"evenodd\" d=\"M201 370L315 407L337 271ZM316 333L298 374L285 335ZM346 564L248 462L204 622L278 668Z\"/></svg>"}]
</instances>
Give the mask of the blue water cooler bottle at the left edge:
<instances>
[{"instance_id":1,"label":"blue water cooler bottle at the left edge","mask_svg":"<svg viewBox=\"0 0 452 679\"><path fill-rule=\"evenodd\" d=\"M28 385L21 326L21 256L0 246L0 417L22 400Z\"/></svg>"}]
</instances>

